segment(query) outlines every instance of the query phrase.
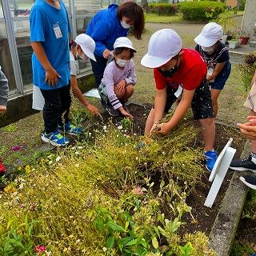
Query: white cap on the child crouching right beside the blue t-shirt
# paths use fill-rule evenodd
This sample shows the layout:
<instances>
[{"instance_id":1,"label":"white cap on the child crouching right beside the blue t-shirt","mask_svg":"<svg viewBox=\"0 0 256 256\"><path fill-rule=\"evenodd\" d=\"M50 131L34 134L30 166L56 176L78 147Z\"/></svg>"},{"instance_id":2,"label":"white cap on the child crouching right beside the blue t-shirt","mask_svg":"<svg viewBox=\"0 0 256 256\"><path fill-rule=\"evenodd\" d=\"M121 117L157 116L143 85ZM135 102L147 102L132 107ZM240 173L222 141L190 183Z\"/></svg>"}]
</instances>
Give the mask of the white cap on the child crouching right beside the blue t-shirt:
<instances>
[{"instance_id":1,"label":"white cap on the child crouching right beside the blue t-shirt","mask_svg":"<svg viewBox=\"0 0 256 256\"><path fill-rule=\"evenodd\" d=\"M74 39L74 42L82 48L83 53L86 54L87 57L96 62L96 58L94 56L95 42L93 38L90 38L87 34L78 34Z\"/></svg>"}]
</instances>

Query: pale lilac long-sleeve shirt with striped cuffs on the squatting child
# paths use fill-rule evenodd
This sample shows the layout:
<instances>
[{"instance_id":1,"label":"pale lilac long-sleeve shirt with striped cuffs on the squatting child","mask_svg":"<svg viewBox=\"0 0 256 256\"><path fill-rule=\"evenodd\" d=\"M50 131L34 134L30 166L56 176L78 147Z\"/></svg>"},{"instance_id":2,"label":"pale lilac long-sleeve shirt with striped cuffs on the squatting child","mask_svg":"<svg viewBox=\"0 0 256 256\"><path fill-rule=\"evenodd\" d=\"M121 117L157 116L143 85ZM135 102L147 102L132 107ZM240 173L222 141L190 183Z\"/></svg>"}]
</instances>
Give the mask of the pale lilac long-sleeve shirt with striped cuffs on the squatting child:
<instances>
[{"instance_id":1,"label":"pale lilac long-sleeve shirt with striped cuffs on the squatting child","mask_svg":"<svg viewBox=\"0 0 256 256\"><path fill-rule=\"evenodd\" d=\"M114 86L121 82L122 79L126 80L126 84L135 85L137 82L135 74L134 61L131 59L129 64L125 66L123 70L118 69L115 62L112 61L106 66L102 83L106 85L106 93L109 98L110 104L114 107L114 110L118 110L122 106L119 102L117 95L114 93Z\"/></svg>"}]
</instances>

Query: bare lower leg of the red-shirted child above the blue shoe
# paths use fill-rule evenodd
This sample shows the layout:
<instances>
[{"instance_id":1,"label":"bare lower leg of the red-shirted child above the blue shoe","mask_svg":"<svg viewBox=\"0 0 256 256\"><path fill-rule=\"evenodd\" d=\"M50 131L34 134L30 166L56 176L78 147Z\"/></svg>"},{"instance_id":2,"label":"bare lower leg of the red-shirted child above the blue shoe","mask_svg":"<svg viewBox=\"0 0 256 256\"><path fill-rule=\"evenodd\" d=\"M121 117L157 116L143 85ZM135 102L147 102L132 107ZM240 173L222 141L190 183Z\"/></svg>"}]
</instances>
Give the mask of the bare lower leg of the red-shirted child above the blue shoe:
<instances>
[{"instance_id":1,"label":"bare lower leg of the red-shirted child above the blue shoe","mask_svg":"<svg viewBox=\"0 0 256 256\"><path fill-rule=\"evenodd\" d=\"M203 128L202 136L205 142L205 150L212 150L214 148L215 140L214 118L200 119L199 122Z\"/></svg>"}]
</instances>

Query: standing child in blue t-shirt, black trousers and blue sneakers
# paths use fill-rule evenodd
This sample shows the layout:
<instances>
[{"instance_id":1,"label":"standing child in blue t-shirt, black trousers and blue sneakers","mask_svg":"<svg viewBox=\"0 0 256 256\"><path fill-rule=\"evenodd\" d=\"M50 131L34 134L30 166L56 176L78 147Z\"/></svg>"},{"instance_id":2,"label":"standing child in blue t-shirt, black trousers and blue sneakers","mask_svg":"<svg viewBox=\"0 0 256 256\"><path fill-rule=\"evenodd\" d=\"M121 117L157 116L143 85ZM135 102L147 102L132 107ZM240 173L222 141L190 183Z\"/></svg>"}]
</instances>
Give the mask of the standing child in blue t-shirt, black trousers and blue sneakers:
<instances>
[{"instance_id":1,"label":"standing child in blue t-shirt, black trousers and blue sneakers","mask_svg":"<svg viewBox=\"0 0 256 256\"><path fill-rule=\"evenodd\" d=\"M42 140L64 146L58 131L62 114L70 109L70 22L62 1L36 0L30 13L33 82L45 99Z\"/></svg>"}]
</instances>

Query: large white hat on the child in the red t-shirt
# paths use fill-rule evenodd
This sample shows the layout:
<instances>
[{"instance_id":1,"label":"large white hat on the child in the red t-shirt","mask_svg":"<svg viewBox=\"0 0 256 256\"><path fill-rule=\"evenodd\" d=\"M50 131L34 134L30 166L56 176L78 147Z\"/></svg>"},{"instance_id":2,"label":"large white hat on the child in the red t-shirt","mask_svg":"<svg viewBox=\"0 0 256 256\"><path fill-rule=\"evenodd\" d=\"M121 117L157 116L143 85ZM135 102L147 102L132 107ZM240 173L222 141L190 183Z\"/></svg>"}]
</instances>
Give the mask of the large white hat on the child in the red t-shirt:
<instances>
[{"instance_id":1,"label":"large white hat on the child in the red t-shirt","mask_svg":"<svg viewBox=\"0 0 256 256\"><path fill-rule=\"evenodd\" d=\"M158 30L152 34L142 66L156 68L169 62L182 50L182 39L170 29Z\"/></svg>"}]
</instances>

